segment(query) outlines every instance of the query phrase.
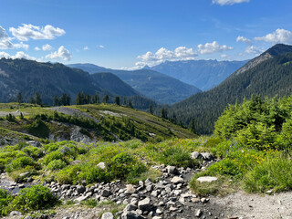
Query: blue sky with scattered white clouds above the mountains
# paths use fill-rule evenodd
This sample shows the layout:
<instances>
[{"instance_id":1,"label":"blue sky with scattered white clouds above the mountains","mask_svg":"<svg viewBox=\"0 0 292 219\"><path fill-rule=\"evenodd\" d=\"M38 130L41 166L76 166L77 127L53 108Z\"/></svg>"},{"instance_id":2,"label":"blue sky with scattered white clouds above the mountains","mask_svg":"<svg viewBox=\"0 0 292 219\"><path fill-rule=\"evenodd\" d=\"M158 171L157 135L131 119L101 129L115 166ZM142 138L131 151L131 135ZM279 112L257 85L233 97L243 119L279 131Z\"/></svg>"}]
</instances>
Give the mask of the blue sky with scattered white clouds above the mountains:
<instances>
[{"instance_id":1,"label":"blue sky with scattered white clouds above the mountains","mask_svg":"<svg viewBox=\"0 0 292 219\"><path fill-rule=\"evenodd\" d=\"M292 44L291 0L3 0L0 57L141 68Z\"/></svg>"}]
</instances>

